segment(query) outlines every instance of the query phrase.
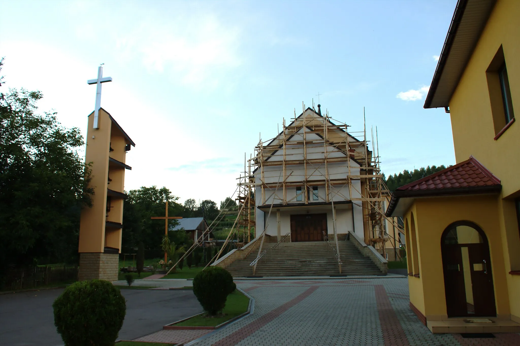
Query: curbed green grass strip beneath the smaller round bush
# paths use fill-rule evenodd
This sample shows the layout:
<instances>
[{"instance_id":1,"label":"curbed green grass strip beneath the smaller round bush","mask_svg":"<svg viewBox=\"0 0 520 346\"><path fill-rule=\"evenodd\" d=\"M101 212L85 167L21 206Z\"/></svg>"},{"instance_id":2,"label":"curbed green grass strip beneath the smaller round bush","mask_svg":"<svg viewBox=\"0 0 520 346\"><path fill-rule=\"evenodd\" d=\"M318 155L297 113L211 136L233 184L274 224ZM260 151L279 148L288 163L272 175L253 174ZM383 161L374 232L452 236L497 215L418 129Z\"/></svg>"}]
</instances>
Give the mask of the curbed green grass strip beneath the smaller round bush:
<instances>
[{"instance_id":1,"label":"curbed green grass strip beneath the smaller round bush","mask_svg":"<svg viewBox=\"0 0 520 346\"><path fill-rule=\"evenodd\" d=\"M222 311L223 317L204 317L198 315L191 317L189 320L177 323L176 326L210 326L214 327L220 323L224 323L231 318L236 317L248 311L249 298L241 294L238 290L230 294L226 300L226 307Z\"/></svg>"}]
</instances>

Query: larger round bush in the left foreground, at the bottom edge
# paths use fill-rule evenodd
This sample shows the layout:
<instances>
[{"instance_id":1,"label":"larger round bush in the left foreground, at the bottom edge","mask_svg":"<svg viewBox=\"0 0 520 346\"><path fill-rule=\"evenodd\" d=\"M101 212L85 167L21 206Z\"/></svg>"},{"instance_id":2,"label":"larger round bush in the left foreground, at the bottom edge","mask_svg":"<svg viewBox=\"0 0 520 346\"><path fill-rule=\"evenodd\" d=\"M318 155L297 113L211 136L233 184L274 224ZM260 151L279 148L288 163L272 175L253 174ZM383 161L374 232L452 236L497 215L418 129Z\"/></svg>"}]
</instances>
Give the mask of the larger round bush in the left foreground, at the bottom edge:
<instances>
[{"instance_id":1,"label":"larger round bush in the left foreground, at the bottom edge","mask_svg":"<svg viewBox=\"0 0 520 346\"><path fill-rule=\"evenodd\" d=\"M53 308L54 324L66 346L113 346L126 314L119 289L103 280L70 285Z\"/></svg>"}]
</instances>

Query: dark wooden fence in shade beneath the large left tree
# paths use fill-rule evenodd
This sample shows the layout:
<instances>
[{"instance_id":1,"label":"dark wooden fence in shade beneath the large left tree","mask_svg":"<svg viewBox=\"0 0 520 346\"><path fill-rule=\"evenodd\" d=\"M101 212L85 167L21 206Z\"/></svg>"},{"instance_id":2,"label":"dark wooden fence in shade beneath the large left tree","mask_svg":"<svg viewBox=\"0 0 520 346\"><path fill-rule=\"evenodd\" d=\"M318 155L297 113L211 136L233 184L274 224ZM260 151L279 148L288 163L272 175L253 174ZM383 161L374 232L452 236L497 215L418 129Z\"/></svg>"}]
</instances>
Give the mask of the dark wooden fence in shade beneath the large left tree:
<instances>
[{"instance_id":1,"label":"dark wooden fence in shade beneath the large left tree","mask_svg":"<svg viewBox=\"0 0 520 346\"><path fill-rule=\"evenodd\" d=\"M38 288L77 280L77 265L50 264L8 269L3 290Z\"/></svg>"}]
</instances>

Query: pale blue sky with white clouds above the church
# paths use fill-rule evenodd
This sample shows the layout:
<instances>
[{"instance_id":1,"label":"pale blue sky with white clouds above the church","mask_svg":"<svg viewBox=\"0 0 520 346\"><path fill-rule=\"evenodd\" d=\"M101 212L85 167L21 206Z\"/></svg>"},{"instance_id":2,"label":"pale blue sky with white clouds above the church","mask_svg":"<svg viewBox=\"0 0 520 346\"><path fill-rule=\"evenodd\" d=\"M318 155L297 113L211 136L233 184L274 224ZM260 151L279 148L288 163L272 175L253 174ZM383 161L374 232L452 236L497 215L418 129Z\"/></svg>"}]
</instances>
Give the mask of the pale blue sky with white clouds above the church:
<instances>
[{"instance_id":1,"label":"pale blue sky with white clouds above the church","mask_svg":"<svg viewBox=\"0 0 520 346\"><path fill-rule=\"evenodd\" d=\"M86 134L101 107L136 143L125 190L157 185L219 204L259 138L321 104L377 128L386 176L455 163L449 114L423 109L456 0L5 1L5 87ZM82 149L81 155L84 155Z\"/></svg>"}]
</instances>

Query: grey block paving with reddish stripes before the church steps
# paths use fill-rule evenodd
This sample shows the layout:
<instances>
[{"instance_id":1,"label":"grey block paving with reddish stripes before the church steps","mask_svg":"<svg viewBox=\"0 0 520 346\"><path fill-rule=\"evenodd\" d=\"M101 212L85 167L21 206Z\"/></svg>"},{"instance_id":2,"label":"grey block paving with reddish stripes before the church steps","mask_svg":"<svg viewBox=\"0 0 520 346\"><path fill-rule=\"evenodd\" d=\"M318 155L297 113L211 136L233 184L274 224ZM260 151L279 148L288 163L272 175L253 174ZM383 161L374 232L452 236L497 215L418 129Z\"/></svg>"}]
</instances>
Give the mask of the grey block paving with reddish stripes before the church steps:
<instances>
[{"instance_id":1,"label":"grey block paving with reddish stripes before the church steps","mask_svg":"<svg viewBox=\"0 0 520 346\"><path fill-rule=\"evenodd\" d=\"M406 277L237 280L254 311L217 330L161 330L138 341L189 345L520 345L519 334L432 334L409 307Z\"/></svg>"}]
</instances>

